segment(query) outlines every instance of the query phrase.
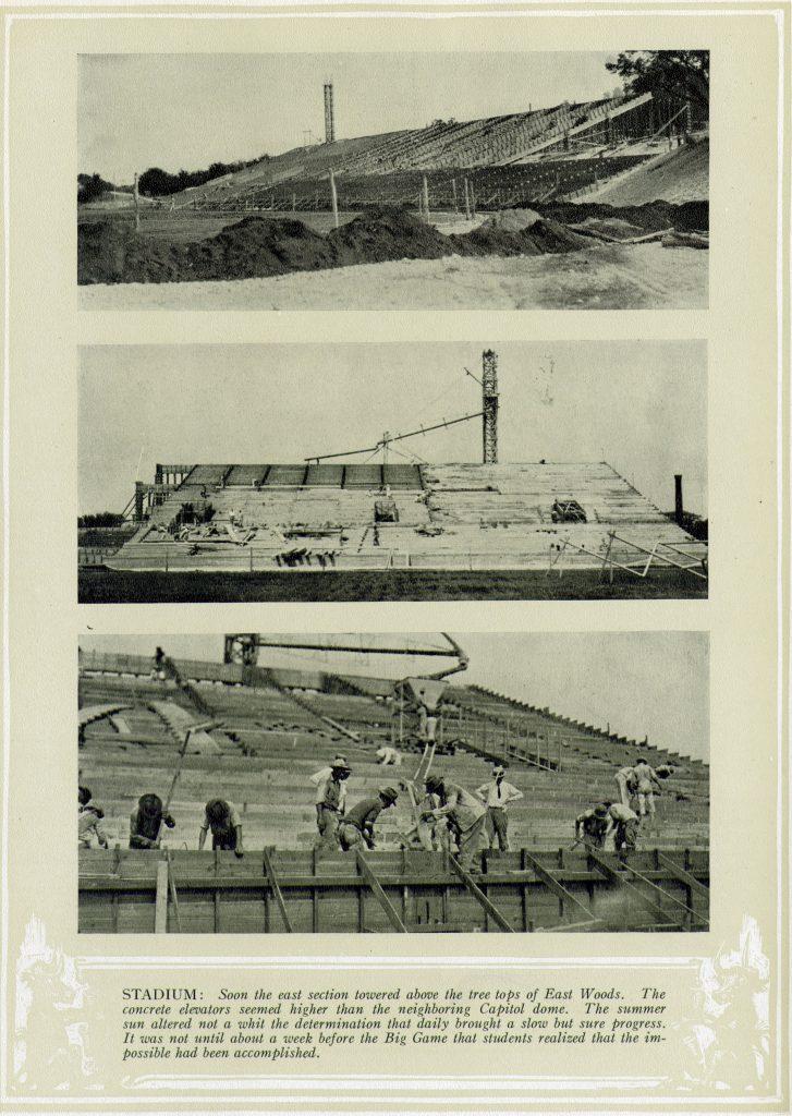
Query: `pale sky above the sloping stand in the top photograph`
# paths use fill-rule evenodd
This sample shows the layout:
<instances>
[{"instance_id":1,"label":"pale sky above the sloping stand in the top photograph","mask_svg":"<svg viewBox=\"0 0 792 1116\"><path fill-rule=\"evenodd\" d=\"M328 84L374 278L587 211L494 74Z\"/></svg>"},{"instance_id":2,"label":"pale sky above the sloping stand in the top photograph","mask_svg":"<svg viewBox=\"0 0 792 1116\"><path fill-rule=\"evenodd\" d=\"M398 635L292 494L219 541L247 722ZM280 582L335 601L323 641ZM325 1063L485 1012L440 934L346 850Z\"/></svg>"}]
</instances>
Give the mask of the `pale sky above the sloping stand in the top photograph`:
<instances>
[{"instance_id":1,"label":"pale sky above the sloping stand in the top photograph","mask_svg":"<svg viewBox=\"0 0 792 1116\"><path fill-rule=\"evenodd\" d=\"M592 100L618 78L602 52L80 55L83 173L118 185L278 155L323 138L334 83L336 137Z\"/></svg>"}]
</instances>

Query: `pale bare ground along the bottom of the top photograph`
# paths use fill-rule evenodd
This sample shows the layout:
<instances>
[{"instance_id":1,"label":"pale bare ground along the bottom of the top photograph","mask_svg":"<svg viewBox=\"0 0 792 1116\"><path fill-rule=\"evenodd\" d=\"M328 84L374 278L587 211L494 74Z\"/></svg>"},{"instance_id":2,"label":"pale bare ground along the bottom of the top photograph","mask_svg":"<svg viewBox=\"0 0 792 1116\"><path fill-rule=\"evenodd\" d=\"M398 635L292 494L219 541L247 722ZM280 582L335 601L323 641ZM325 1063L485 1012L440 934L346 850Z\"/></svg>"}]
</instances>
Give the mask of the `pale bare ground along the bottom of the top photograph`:
<instances>
[{"instance_id":1,"label":"pale bare ground along the bottom of the top photograph","mask_svg":"<svg viewBox=\"0 0 792 1116\"><path fill-rule=\"evenodd\" d=\"M708 252L592 244L539 257L398 260L268 279L79 288L83 310L706 309Z\"/></svg>"}]
</instances>

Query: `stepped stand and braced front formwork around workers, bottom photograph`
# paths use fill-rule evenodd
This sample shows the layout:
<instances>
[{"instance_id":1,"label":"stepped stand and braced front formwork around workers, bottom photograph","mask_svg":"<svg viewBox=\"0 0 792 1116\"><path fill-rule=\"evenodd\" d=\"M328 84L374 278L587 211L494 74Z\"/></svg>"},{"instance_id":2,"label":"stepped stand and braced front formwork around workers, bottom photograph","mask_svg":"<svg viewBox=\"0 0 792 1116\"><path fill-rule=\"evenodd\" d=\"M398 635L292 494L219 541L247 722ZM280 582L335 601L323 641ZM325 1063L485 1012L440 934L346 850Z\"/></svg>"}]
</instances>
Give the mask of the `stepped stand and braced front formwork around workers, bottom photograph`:
<instances>
[{"instance_id":1,"label":"stepped stand and braced front formwork around workers, bottom photograph","mask_svg":"<svg viewBox=\"0 0 792 1116\"><path fill-rule=\"evenodd\" d=\"M176 665L161 681L151 677L146 657L81 654L83 708L91 711L81 725L83 781L103 805L115 844L80 850L81 932L684 932L708 925L708 779L699 761L682 760L675 793L660 799L663 830L647 831L622 872L607 853L562 847L571 819L591 800L615 797L614 771L636 753L655 766L678 764L676 754L492 690L436 681L444 711L437 754L424 750L415 776L404 778L374 754L392 741L394 724L404 724L393 682L250 662ZM424 689L431 682L415 681ZM163 705L172 706L171 715L162 715ZM453 756L442 747L446 721L458 740ZM460 723L463 737L473 735L473 724L486 724L486 733L471 744L456 735ZM187 747L202 732L214 749ZM553 766L537 763L532 744L522 751L531 733L558 743ZM377 849L363 855L307 847L313 839L308 776L341 747L352 767L352 801L384 779L406 791L380 826ZM510 778L525 793L511 814L515 852L483 854L481 874L471 877L448 850L397 847L415 821L418 783L429 768L473 788L486 779L489 761L504 754ZM122 848L138 795L162 793L168 783L177 827L167 847ZM194 848L203 805L218 792L242 817L243 859Z\"/></svg>"}]
</instances>

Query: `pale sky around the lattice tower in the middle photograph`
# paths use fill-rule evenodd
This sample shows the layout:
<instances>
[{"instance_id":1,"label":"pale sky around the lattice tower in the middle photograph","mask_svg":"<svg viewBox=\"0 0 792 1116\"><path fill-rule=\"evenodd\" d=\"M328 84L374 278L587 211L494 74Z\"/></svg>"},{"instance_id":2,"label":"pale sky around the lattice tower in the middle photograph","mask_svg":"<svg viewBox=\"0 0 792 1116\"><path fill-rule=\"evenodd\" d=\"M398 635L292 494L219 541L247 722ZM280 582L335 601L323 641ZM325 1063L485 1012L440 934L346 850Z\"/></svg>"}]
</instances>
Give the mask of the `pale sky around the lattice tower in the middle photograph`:
<instances>
[{"instance_id":1,"label":"pale sky around the lattice tower in the middle photograph","mask_svg":"<svg viewBox=\"0 0 792 1116\"><path fill-rule=\"evenodd\" d=\"M122 511L156 462L298 462L480 411L465 368L481 376L491 344L83 348L79 514ZM703 343L494 347L501 462L607 461L664 511L682 473L686 508L707 513ZM481 420L398 443L403 462L396 451L480 461Z\"/></svg>"}]
</instances>

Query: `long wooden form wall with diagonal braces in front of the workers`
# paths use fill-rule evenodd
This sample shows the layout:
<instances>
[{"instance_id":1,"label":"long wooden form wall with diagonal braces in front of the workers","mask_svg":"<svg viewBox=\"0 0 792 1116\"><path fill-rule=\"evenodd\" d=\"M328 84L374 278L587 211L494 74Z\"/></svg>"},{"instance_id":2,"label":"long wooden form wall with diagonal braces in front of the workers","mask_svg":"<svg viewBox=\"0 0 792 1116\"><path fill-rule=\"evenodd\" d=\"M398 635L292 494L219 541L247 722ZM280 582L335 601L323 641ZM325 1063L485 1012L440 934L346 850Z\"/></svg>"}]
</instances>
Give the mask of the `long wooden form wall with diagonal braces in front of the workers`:
<instances>
[{"instance_id":1,"label":"long wooden form wall with diagonal braces in front of the workers","mask_svg":"<svg viewBox=\"0 0 792 1116\"><path fill-rule=\"evenodd\" d=\"M294 933L393 933L393 918L359 872L354 853L269 849ZM634 864L665 892L708 914L708 895L686 884L676 867L699 886L708 883L705 853L664 852L670 867L658 866L655 853L636 854ZM531 858L541 865L538 874ZM471 894L442 853L377 853L366 862L398 920L411 933L501 932L501 927ZM162 925L163 854L152 852L83 850L79 857L79 930L81 933L154 933L160 875ZM241 860L232 853L170 852L172 879L178 897L183 933L283 933L279 904L261 852ZM529 854L490 853L476 877L505 922L516 932L563 929L581 923L581 905L599 920L600 930L650 930L651 916L629 905L593 868L585 854L532 850ZM559 888L542 878L550 874ZM164 877L166 879L166 876ZM564 901L566 893L576 902ZM627 905L625 905L627 903ZM176 932L173 902L167 906L167 931ZM629 925L627 924L629 923ZM583 926L585 929L585 921Z\"/></svg>"}]
</instances>

